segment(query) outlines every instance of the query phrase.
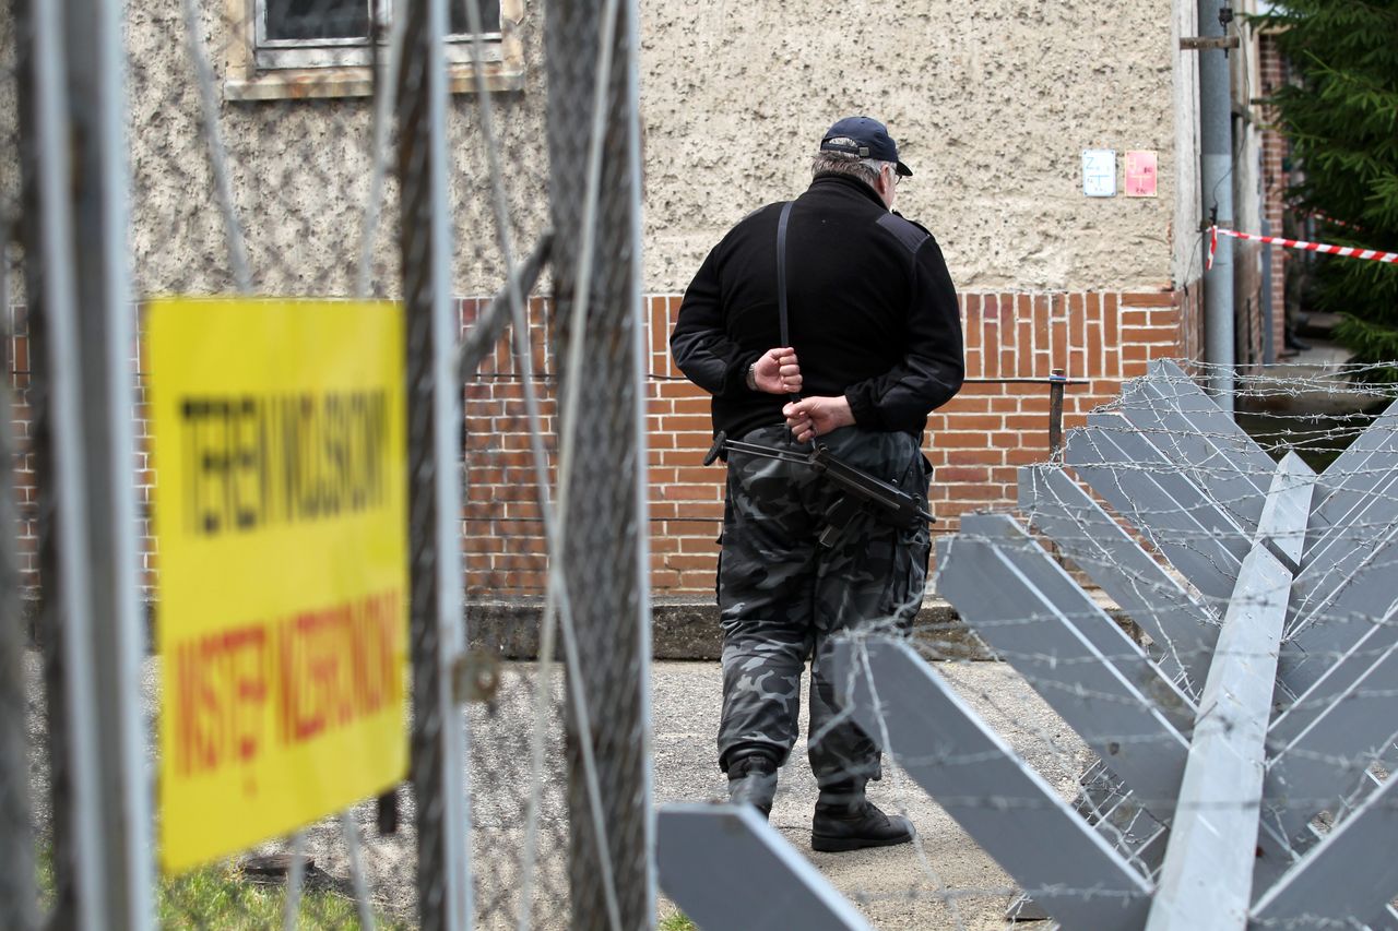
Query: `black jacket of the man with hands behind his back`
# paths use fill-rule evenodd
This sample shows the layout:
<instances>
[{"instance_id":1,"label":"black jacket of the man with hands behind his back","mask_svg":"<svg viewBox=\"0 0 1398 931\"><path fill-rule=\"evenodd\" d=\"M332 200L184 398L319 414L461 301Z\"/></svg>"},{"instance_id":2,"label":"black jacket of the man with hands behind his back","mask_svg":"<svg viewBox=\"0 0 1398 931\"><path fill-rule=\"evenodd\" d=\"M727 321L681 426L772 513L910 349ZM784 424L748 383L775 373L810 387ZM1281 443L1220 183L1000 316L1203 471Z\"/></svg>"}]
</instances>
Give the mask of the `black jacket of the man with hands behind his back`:
<instances>
[{"instance_id":1,"label":"black jacket of the man with hands behind his back","mask_svg":"<svg viewBox=\"0 0 1398 931\"><path fill-rule=\"evenodd\" d=\"M723 238L689 284L670 351L713 394L713 429L737 439L781 424L787 398L749 391L748 366L781 345L776 240L781 204ZM857 426L921 442L927 414L962 386L960 316L937 240L858 179L821 175L787 225L787 316L802 394L850 401Z\"/></svg>"}]
</instances>

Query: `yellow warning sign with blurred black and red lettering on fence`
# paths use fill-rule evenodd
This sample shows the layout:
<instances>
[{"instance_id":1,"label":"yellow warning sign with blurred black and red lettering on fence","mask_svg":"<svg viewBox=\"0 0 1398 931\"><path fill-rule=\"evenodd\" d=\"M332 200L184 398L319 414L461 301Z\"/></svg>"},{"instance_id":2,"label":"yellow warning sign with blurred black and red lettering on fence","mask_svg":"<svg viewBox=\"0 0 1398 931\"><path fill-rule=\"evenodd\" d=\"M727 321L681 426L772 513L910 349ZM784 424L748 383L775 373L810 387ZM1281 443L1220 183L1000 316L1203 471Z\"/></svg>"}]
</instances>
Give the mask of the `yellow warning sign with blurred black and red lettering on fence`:
<instances>
[{"instance_id":1,"label":"yellow warning sign with blurred black and red lettering on fence","mask_svg":"<svg viewBox=\"0 0 1398 931\"><path fill-rule=\"evenodd\" d=\"M403 313L162 299L147 340L178 872L407 774Z\"/></svg>"}]
</instances>

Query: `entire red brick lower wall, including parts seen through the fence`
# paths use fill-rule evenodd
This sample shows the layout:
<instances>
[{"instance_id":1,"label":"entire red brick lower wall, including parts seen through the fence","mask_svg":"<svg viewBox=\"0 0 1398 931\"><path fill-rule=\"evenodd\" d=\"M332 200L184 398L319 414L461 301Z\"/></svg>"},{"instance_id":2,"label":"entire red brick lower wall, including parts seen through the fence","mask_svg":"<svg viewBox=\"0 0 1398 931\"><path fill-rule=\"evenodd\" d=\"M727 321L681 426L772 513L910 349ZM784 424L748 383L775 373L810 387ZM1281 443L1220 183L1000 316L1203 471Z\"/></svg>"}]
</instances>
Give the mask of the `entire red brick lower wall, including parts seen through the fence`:
<instances>
[{"instance_id":1,"label":"entire red brick lower wall, including parts seen through the fence","mask_svg":"<svg viewBox=\"0 0 1398 931\"><path fill-rule=\"evenodd\" d=\"M953 531L967 510L1008 507L1015 500L1016 468L1048 457L1048 376L1061 369L1064 428L1114 398L1125 379L1145 373L1155 358L1199 358L1201 306L1197 287L1180 291L963 294L967 384L928 422L924 450L935 467L932 510L937 531ZM468 327L485 302L460 303ZM651 589L657 596L707 596L713 591L723 517L721 466L703 467L710 443L709 398L675 370L668 334L679 295L651 295L646 312L646 431L650 485ZM556 479L558 398L549 345L552 305L528 303L533 380L544 425L549 481ZM15 435L21 510L20 551L24 583L36 583L35 488L29 438L28 340L22 315L7 345L15 389ZM136 482L150 503L154 472L145 456L144 389L138 359ZM475 598L541 594L545 589L544 530L535 500L535 467L526 429L523 366L500 344L463 390L464 572ZM586 414L583 421L586 424ZM586 432L582 436L586 442ZM586 489L572 489L586 495ZM143 514L144 516L144 514ZM154 582L150 524L141 524L145 583Z\"/></svg>"}]
</instances>

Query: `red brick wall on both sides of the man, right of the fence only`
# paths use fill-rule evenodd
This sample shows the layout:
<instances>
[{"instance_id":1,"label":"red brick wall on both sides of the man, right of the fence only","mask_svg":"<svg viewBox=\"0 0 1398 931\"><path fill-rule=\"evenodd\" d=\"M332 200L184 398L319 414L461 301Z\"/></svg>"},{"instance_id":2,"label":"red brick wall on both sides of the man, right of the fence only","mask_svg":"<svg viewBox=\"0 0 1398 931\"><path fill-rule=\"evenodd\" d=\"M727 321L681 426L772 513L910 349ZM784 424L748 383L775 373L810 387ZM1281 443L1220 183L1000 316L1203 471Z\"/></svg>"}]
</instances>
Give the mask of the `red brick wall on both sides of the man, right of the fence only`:
<instances>
[{"instance_id":1,"label":"red brick wall on both sides of the man, right of the fence only","mask_svg":"<svg viewBox=\"0 0 1398 931\"><path fill-rule=\"evenodd\" d=\"M938 533L960 514L1009 507L1018 467L1048 459L1048 376L1062 369L1064 429L1114 398L1156 358L1197 359L1197 287L1156 292L963 294L967 384L928 419ZM679 377L665 340L678 295L646 302L650 330L651 583L657 593L709 593L723 516L723 470L700 468L707 396ZM668 426L668 429L667 429Z\"/></svg>"}]
</instances>

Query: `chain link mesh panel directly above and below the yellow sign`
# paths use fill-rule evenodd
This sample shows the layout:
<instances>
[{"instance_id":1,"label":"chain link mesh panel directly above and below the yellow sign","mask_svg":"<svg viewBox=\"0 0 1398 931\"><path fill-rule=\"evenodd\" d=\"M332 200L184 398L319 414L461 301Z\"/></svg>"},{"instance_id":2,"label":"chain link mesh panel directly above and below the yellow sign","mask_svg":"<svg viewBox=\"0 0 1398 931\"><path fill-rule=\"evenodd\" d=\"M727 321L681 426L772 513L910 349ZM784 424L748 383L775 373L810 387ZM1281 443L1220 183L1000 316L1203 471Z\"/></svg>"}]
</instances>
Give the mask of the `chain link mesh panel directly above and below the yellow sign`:
<instances>
[{"instance_id":1,"label":"chain link mesh panel directly above and below the yellow sign","mask_svg":"<svg viewBox=\"0 0 1398 931\"><path fill-rule=\"evenodd\" d=\"M171 0L130 13L138 302L229 292L401 294L387 123L393 101L382 82L391 45L387 22L344 18L350 7ZM326 66L330 49L344 67ZM141 365L143 438L151 375ZM158 475L148 440L138 459L141 503L150 507ZM158 572L154 542L145 516L148 596ZM411 811L411 795L404 797ZM194 927L280 921L291 899L310 927L414 921L414 837L380 833L376 805L361 804L348 818L308 826L301 839L166 881L161 920ZM224 914L207 910L217 895L229 903Z\"/></svg>"}]
</instances>

